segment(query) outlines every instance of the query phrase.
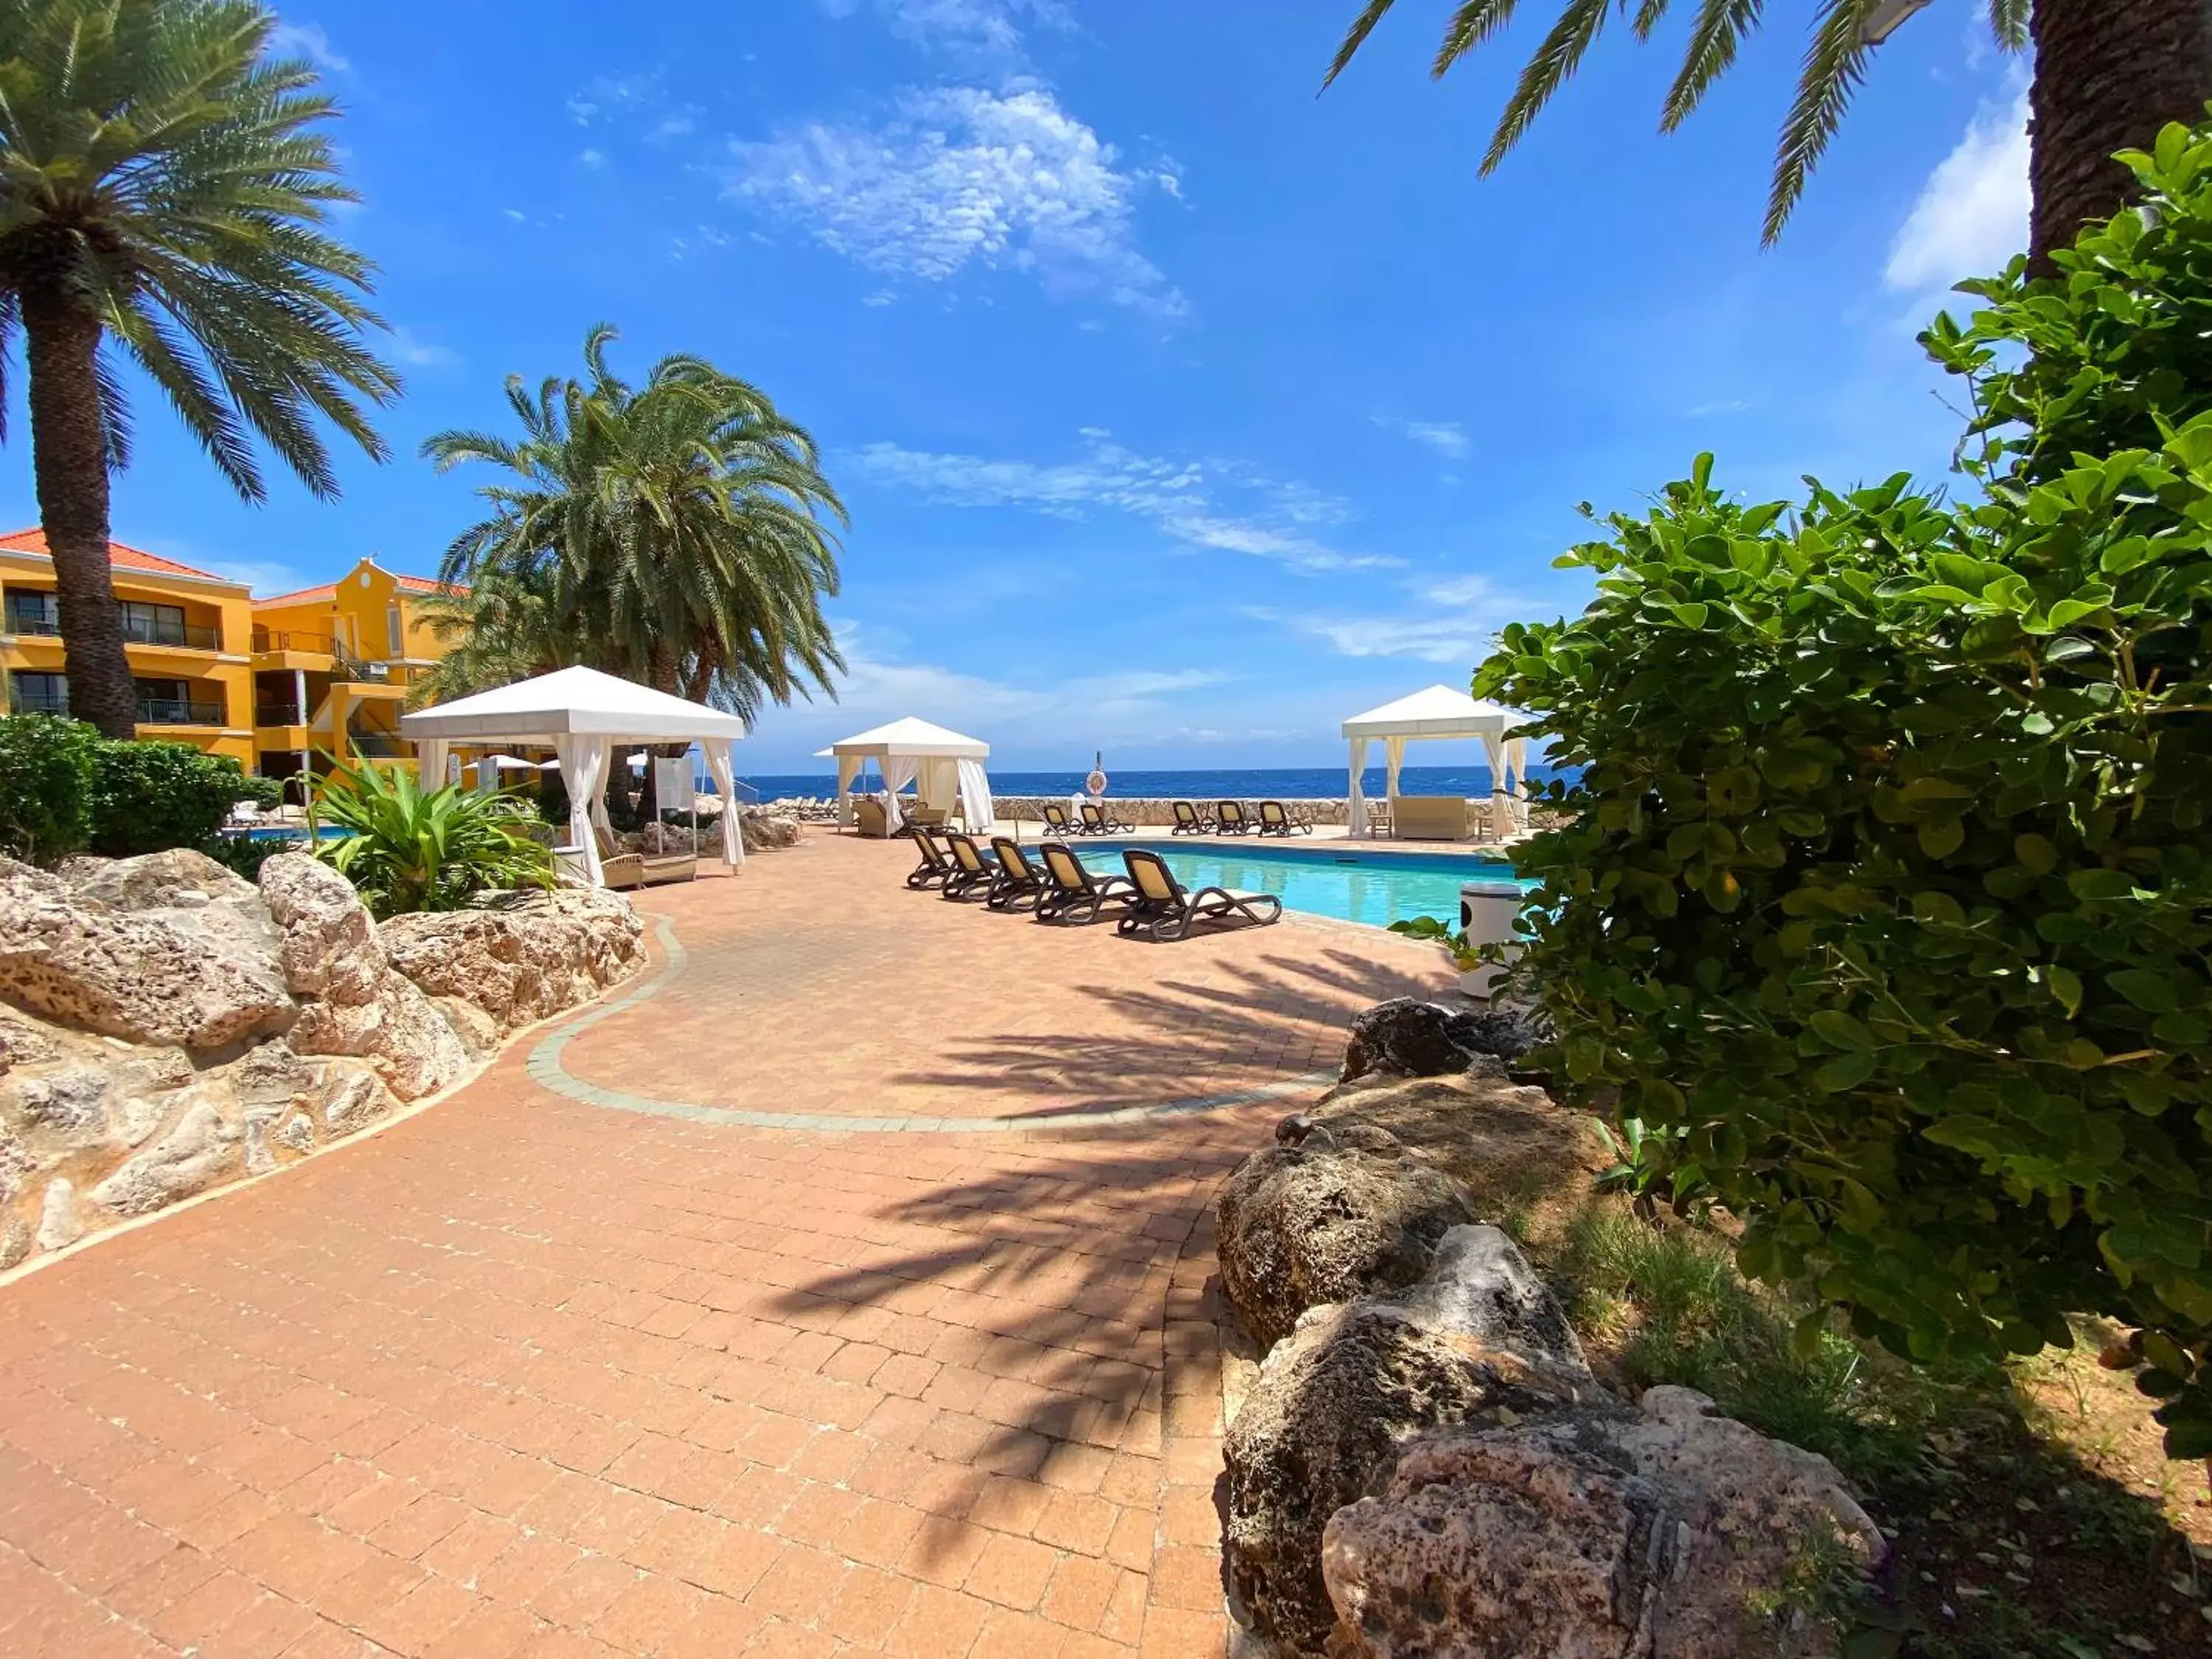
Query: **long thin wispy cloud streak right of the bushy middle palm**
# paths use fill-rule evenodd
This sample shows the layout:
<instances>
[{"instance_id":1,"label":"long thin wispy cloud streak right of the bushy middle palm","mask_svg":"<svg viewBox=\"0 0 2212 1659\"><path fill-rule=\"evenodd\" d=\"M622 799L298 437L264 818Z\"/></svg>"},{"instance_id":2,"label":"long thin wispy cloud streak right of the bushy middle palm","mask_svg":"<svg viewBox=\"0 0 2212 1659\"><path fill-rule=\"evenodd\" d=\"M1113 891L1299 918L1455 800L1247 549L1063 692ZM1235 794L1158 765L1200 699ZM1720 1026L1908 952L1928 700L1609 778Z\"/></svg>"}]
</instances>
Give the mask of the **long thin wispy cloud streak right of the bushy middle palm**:
<instances>
[{"instance_id":1,"label":"long thin wispy cloud streak right of the bushy middle palm","mask_svg":"<svg viewBox=\"0 0 2212 1659\"><path fill-rule=\"evenodd\" d=\"M1292 571L1358 571L1396 564L1371 553L1343 553L1312 531L1349 518L1334 495L1281 484L1225 462L1141 456L1102 427L1082 434L1077 460L1040 465L867 445L860 471L951 507L1026 507L1053 518L1117 511L1148 520L1186 546L1272 560Z\"/></svg>"}]
</instances>

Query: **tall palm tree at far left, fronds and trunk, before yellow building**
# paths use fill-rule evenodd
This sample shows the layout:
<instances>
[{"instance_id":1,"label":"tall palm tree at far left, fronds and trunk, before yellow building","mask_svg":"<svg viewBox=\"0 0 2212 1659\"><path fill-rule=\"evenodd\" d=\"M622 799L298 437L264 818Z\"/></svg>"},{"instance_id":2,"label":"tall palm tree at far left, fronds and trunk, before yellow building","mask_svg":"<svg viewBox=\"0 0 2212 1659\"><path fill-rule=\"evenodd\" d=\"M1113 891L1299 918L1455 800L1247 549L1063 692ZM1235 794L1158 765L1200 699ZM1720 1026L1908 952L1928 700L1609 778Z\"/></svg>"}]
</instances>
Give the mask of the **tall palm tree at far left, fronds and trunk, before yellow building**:
<instances>
[{"instance_id":1,"label":"tall palm tree at far left, fronds and trunk, before yellow building","mask_svg":"<svg viewBox=\"0 0 2212 1659\"><path fill-rule=\"evenodd\" d=\"M69 706L108 737L137 717L108 577L119 365L246 500L250 434L323 498L314 416L385 456L363 409L398 392L361 343L374 268L321 230L354 199L316 131L332 102L263 58L272 27L252 0L0 0L0 365L20 332Z\"/></svg>"}]
</instances>

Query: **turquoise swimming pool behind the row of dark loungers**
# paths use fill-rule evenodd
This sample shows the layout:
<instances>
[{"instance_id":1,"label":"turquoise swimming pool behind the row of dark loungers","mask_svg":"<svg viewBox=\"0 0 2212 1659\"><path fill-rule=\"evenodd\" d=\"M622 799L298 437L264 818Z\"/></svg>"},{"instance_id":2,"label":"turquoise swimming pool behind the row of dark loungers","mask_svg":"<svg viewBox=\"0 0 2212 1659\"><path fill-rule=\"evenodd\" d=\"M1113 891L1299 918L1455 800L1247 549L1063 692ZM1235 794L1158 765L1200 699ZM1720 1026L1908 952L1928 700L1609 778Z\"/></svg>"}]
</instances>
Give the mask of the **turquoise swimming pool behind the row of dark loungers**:
<instances>
[{"instance_id":1,"label":"turquoise swimming pool behind the row of dark loungers","mask_svg":"<svg viewBox=\"0 0 2212 1659\"><path fill-rule=\"evenodd\" d=\"M1121 872L1126 847L1148 847L1168 860L1183 887L1243 887L1274 894L1287 909L1334 916L1345 922L1389 927L1413 916L1436 916L1460 925L1460 883L1533 880L1513 874L1498 856L1467 852L1363 852L1343 843L1259 843L1243 847L1179 847L1159 841L1073 843L1077 856L1097 872Z\"/></svg>"}]
</instances>

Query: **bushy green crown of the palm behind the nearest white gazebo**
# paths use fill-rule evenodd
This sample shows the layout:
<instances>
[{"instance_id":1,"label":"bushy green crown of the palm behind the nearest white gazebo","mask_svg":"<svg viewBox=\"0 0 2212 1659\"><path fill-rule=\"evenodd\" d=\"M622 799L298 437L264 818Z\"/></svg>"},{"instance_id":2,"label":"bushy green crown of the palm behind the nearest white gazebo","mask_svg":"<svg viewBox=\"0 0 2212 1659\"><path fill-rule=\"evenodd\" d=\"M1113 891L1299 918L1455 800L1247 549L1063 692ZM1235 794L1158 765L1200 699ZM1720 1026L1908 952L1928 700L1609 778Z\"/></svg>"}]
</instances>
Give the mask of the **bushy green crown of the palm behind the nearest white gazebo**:
<instances>
[{"instance_id":1,"label":"bushy green crown of the palm behind the nearest white gazebo","mask_svg":"<svg viewBox=\"0 0 2212 1659\"><path fill-rule=\"evenodd\" d=\"M588 664L752 717L830 690L845 666L821 602L838 591L845 507L814 440L765 392L697 356L666 356L641 387L606 361L615 330L584 336L582 380L520 376L520 440L440 431L438 471L489 462L491 513L445 553L487 637L451 679Z\"/></svg>"}]
</instances>

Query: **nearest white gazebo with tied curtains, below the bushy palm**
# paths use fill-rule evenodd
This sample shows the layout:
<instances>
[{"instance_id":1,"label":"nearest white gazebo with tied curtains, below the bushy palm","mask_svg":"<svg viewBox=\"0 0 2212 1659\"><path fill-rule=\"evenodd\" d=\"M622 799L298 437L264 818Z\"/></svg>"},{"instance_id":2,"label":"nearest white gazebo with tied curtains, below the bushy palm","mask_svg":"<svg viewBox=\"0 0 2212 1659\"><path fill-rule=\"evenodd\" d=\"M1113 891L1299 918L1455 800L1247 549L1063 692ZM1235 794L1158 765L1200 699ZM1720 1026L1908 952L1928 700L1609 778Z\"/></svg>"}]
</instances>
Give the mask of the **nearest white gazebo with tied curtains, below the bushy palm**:
<instances>
[{"instance_id":1,"label":"nearest white gazebo with tied curtains, below the bushy palm","mask_svg":"<svg viewBox=\"0 0 2212 1659\"><path fill-rule=\"evenodd\" d=\"M745 863L745 841L737 827L737 763L730 754L745 734L745 721L737 714L686 703L597 668L560 668L403 714L400 734L414 739L425 787L445 781L445 757L453 743L551 743L560 757L560 781L568 790L568 841L593 887L604 883L593 825L608 827L602 792L615 748L697 743L723 801L721 858L732 869Z\"/></svg>"}]
</instances>

